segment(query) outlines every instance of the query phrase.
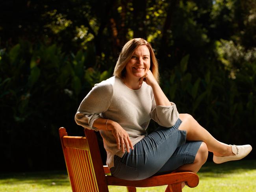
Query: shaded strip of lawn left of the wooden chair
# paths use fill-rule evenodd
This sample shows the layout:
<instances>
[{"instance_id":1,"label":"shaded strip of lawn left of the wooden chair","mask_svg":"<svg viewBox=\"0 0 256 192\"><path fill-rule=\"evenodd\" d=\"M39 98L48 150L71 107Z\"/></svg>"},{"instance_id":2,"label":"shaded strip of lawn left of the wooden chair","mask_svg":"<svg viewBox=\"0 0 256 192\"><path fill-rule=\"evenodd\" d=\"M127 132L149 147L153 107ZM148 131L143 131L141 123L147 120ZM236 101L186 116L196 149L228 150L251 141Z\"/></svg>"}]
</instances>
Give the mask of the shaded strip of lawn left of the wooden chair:
<instances>
[{"instance_id":1,"label":"shaded strip of lawn left of the wooden chair","mask_svg":"<svg viewBox=\"0 0 256 192\"><path fill-rule=\"evenodd\" d=\"M70 186L65 171L8 173L0 175L0 184L37 184L47 186Z\"/></svg>"}]
</instances>

